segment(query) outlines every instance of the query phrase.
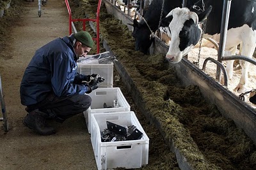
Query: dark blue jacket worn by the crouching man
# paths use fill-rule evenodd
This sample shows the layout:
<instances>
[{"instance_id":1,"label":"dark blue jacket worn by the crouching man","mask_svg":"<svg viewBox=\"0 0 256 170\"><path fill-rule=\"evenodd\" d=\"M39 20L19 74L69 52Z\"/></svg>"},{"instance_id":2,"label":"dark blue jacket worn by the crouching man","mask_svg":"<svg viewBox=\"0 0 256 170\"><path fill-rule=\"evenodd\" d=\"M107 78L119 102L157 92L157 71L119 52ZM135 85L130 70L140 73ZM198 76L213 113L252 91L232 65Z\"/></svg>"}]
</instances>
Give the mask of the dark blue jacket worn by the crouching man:
<instances>
[{"instance_id":1,"label":"dark blue jacket worn by the crouching man","mask_svg":"<svg viewBox=\"0 0 256 170\"><path fill-rule=\"evenodd\" d=\"M73 83L77 57L72 47L74 36L57 38L36 50L20 84L21 104L39 103L51 92L58 97L84 94L90 88ZM77 75L78 74L78 75Z\"/></svg>"}]
</instances>

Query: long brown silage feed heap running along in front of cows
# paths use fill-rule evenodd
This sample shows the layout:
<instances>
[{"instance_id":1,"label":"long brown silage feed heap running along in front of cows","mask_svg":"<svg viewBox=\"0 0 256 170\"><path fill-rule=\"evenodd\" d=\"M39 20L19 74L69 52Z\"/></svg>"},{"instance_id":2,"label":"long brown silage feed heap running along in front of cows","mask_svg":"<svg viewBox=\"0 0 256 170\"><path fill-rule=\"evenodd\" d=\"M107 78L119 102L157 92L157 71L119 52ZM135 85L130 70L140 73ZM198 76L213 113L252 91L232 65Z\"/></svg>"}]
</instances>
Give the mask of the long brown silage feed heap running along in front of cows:
<instances>
[{"instance_id":1,"label":"long brown silage feed heap running along in front of cows","mask_svg":"<svg viewBox=\"0 0 256 170\"><path fill-rule=\"evenodd\" d=\"M97 4L97 0L70 1L72 15L74 18L95 18ZM198 87L182 86L163 54L135 52L131 32L120 20L108 15L104 3L100 9L100 35L140 91L138 95L143 98L145 113L159 122L163 135L159 140L164 138L167 143L171 140L189 166L204 170L256 169L256 148L243 130L237 128L232 120L222 117L216 106L207 103ZM154 121L149 122L152 124L146 125L154 126ZM166 146L150 144L152 157L159 150L166 152ZM151 158L155 164L148 164L142 169L177 169L177 163L166 163L173 162L173 159L175 157L171 153L169 158L162 159L164 162Z\"/></svg>"}]
</instances>

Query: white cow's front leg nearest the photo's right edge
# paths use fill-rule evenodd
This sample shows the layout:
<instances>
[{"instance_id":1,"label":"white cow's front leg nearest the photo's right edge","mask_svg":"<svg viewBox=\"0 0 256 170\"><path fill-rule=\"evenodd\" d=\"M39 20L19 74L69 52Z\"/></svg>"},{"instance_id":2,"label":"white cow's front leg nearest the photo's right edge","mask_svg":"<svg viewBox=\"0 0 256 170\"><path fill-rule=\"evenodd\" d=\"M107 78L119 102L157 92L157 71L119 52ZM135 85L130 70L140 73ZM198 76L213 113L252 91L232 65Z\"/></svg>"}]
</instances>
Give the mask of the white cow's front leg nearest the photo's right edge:
<instances>
[{"instance_id":1,"label":"white cow's front leg nearest the photo's right edge","mask_svg":"<svg viewBox=\"0 0 256 170\"><path fill-rule=\"evenodd\" d=\"M249 43L242 43L241 48L241 55L244 55L246 57L252 58L253 52L255 50L255 41L251 41ZM239 61L240 66L242 67L242 74L241 78L239 80L239 84L237 85L236 89L234 89L238 93L246 92L247 90L247 84L248 84L248 69L250 66L250 62L246 62L244 60Z\"/></svg>"}]
</instances>

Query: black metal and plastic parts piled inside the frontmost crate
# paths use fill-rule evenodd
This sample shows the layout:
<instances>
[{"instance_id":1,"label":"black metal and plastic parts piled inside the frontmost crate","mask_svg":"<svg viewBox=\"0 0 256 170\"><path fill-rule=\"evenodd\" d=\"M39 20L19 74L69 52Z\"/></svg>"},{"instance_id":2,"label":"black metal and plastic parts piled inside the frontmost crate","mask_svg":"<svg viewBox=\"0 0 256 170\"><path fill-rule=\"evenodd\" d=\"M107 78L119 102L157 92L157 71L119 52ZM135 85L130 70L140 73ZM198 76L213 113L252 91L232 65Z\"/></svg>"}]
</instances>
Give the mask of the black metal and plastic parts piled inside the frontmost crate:
<instances>
[{"instance_id":1,"label":"black metal and plastic parts piled inside the frontmost crate","mask_svg":"<svg viewBox=\"0 0 256 170\"><path fill-rule=\"evenodd\" d=\"M143 133L135 125L127 127L109 121L106 122L108 129L100 132L102 142L138 140L143 136Z\"/></svg>"}]
</instances>

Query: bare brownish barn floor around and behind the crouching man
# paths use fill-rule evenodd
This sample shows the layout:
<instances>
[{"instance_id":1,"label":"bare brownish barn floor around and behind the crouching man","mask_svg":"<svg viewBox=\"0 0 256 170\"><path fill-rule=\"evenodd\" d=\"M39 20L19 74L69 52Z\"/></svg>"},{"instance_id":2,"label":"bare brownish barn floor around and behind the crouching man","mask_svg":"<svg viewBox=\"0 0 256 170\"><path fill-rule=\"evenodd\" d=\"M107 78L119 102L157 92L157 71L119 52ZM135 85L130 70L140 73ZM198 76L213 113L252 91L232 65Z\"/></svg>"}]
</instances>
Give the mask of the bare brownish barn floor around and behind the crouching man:
<instances>
[{"instance_id":1,"label":"bare brownish barn floor around and behind the crouching man","mask_svg":"<svg viewBox=\"0 0 256 170\"><path fill-rule=\"evenodd\" d=\"M21 4L0 18L0 73L10 125L10 131L0 132L0 169L97 169L83 115L54 123L58 133L52 136L38 136L22 124L26 111L19 86L24 69L37 48L68 34L68 15L61 0L48 1L42 17L36 1L13 3Z\"/></svg>"}]
</instances>

